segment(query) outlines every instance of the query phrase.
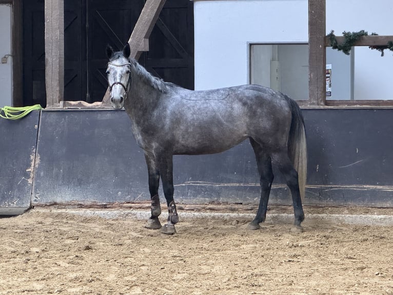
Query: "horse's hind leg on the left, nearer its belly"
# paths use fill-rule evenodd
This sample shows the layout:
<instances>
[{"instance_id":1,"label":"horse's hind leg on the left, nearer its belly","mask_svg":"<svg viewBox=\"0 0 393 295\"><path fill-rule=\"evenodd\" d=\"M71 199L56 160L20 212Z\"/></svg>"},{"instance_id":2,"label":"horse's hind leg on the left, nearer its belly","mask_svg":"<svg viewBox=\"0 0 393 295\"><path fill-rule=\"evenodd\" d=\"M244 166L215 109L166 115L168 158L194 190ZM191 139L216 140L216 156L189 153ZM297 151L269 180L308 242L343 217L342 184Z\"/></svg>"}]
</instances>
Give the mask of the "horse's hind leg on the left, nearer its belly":
<instances>
[{"instance_id":1,"label":"horse's hind leg on the left, nearer its belly","mask_svg":"<svg viewBox=\"0 0 393 295\"><path fill-rule=\"evenodd\" d=\"M250 138L252 148L254 149L255 157L257 160L258 172L260 175L261 185L261 198L259 200L258 212L251 223L248 224L248 229L259 229L259 224L266 219L267 202L273 182L273 171L271 169L271 159L263 152L262 146Z\"/></svg>"}]
</instances>

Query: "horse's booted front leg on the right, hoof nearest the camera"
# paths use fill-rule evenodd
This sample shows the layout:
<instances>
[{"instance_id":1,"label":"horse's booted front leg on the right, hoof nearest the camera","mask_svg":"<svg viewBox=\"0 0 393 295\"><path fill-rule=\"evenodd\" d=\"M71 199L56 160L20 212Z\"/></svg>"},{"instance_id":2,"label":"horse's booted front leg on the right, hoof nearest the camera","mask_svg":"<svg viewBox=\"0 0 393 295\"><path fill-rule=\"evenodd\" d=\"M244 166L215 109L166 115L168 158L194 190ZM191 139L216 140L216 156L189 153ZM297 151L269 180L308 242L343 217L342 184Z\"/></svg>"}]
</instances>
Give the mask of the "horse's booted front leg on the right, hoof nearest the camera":
<instances>
[{"instance_id":1,"label":"horse's booted front leg on the right, hoof nearest the camera","mask_svg":"<svg viewBox=\"0 0 393 295\"><path fill-rule=\"evenodd\" d=\"M164 195L168 205L168 221L164 225L162 232L174 234L174 225L179 222L178 211L173 200L173 163L172 154L162 156L159 160L160 175L163 183Z\"/></svg>"}]
</instances>

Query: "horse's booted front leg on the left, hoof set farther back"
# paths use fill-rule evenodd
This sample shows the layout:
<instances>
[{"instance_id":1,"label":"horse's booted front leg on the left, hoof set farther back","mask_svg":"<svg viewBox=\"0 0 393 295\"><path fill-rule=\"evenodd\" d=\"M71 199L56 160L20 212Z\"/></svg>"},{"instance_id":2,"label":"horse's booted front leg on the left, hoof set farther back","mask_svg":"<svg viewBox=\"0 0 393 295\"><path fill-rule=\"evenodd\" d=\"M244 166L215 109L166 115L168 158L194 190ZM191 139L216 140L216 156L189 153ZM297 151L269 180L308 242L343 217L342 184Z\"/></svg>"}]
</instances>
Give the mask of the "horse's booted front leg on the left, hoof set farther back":
<instances>
[{"instance_id":1,"label":"horse's booted front leg on the left, hoof set farther back","mask_svg":"<svg viewBox=\"0 0 393 295\"><path fill-rule=\"evenodd\" d=\"M159 216L161 214L159 197L160 172L152 153L145 152L145 160L149 174L149 192L151 198L151 216L147 220L145 227L150 229L159 229L162 227L159 220Z\"/></svg>"}]
</instances>

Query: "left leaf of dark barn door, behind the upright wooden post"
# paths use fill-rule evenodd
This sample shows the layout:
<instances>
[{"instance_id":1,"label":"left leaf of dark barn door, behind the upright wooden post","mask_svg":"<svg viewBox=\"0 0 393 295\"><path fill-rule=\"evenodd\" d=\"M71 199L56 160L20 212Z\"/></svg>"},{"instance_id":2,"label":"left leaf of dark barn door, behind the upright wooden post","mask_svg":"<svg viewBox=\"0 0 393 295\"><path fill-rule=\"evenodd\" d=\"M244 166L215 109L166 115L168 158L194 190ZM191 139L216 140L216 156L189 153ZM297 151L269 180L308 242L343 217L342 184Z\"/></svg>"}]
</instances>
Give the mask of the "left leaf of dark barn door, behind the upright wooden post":
<instances>
[{"instance_id":1,"label":"left leaf of dark barn door, behind the upright wooden post","mask_svg":"<svg viewBox=\"0 0 393 295\"><path fill-rule=\"evenodd\" d=\"M24 105L46 105L44 0L24 2ZM64 1L64 98L86 96L86 27L80 0Z\"/></svg>"}]
</instances>

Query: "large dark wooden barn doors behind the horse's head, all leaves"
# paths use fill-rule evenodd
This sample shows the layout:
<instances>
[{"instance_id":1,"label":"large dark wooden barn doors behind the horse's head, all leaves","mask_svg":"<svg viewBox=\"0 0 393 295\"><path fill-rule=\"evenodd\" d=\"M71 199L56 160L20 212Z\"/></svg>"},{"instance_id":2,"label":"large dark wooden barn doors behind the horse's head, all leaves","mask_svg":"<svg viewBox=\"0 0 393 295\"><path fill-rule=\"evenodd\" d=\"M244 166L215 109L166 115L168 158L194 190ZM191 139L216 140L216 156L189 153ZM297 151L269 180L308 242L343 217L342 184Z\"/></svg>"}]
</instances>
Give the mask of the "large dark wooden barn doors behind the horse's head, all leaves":
<instances>
[{"instance_id":1,"label":"large dark wooden barn doors behind the horse's head, all leaves","mask_svg":"<svg viewBox=\"0 0 393 295\"><path fill-rule=\"evenodd\" d=\"M144 0L64 1L64 100L101 101L106 45L121 50ZM44 0L24 1L24 105L46 105ZM167 0L139 62L165 81L193 89L193 6Z\"/></svg>"}]
</instances>

